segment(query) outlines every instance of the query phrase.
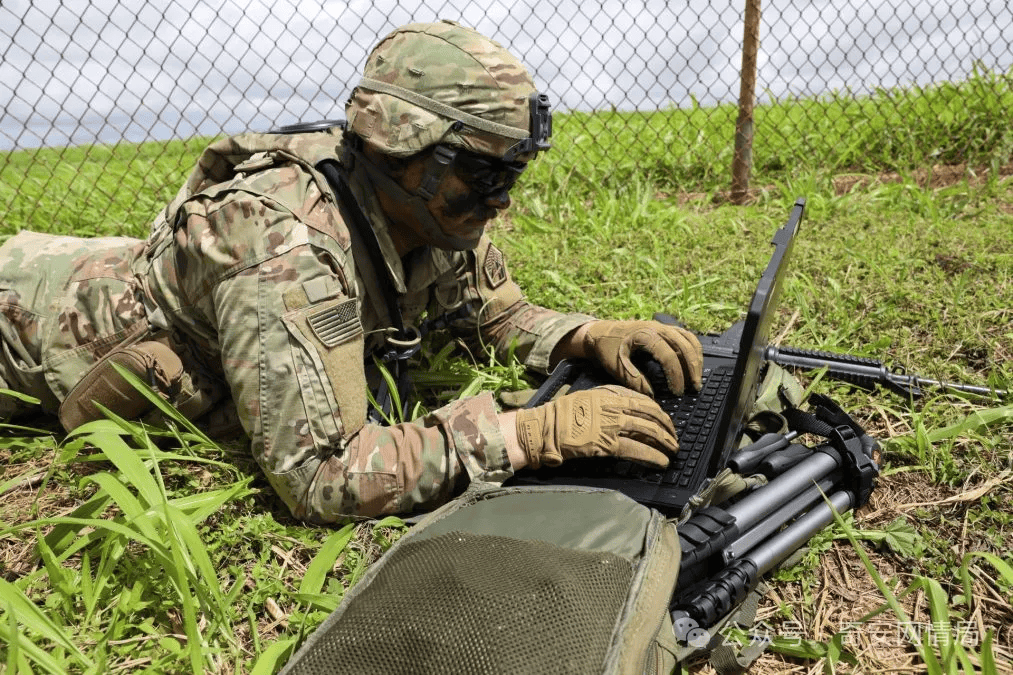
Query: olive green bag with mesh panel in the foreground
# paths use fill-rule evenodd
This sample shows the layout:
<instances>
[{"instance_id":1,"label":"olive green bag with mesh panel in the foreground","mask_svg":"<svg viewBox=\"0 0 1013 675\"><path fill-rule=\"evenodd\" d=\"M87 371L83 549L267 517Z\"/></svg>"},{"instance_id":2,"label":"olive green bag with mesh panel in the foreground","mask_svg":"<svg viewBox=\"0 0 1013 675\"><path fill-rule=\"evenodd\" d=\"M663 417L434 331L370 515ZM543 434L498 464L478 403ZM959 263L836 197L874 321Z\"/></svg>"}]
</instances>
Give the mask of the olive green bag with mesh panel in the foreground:
<instances>
[{"instance_id":1,"label":"olive green bag with mesh panel in the foreground","mask_svg":"<svg viewBox=\"0 0 1013 675\"><path fill-rule=\"evenodd\" d=\"M614 492L476 486L401 538L282 671L669 673L679 538Z\"/></svg>"}]
</instances>

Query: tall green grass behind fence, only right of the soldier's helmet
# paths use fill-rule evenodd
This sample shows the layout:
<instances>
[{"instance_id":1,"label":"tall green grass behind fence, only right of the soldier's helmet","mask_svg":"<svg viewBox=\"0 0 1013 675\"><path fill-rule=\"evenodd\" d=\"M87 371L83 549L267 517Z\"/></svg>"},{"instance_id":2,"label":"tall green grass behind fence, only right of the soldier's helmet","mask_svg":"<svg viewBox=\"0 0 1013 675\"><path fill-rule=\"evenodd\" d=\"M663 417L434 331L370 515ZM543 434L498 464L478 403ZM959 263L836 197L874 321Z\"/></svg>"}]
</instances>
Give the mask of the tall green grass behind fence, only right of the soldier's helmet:
<instances>
[{"instance_id":1,"label":"tall green grass behind fence, only right of the soldier's helmet","mask_svg":"<svg viewBox=\"0 0 1013 675\"><path fill-rule=\"evenodd\" d=\"M908 171L968 163L992 171L1013 152L1013 75L980 71L941 82L854 96L782 99L754 114L754 185L811 173ZM594 192L646 178L671 192L726 191L737 108L575 113L555 123L552 188Z\"/></svg>"}]
</instances>

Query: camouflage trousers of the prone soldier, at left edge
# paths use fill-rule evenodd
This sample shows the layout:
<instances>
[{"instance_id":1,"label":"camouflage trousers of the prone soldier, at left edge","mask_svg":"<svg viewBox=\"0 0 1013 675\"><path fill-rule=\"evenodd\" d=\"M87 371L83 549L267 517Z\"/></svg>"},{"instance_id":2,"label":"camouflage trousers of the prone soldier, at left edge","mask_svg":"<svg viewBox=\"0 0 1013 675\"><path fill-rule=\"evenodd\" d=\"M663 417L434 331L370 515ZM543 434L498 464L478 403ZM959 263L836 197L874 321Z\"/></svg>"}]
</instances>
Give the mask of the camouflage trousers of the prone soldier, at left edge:
<instances>
[{"instance_id":1,"label":"camouflage trousers of the prone soldier, at left edge","mask_svg":"<svg viewBox=\"0 0 1013 675\"><path fill-rule=\"evenodd\" d=\"M56 415L61 402L109 352L158 339L133 268L144 242L127 237L84 239L21 232L0 246L0 388L41 401ZM210 382L181 351L183 374L173 402L194 419L217 402ZM0 394L0 418L40 405ZM68 430L69 431L69 430Z\"/></svg>"}]
</instances>

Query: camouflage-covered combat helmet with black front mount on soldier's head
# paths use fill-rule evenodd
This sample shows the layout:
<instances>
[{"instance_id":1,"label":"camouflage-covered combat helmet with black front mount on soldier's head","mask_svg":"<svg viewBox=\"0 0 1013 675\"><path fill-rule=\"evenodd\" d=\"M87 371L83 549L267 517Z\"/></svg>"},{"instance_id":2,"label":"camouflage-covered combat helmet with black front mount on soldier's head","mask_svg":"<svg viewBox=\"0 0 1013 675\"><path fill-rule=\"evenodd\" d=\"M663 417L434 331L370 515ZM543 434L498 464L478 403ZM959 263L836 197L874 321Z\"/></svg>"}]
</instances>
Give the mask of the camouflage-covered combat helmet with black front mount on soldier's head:
<instances>
[{"instance_id":1,"label":"camouflage-covered combat helmet with black front mount on soldier's head","mask_svg":"<svg viewBox=\"0 0 1013 675\"><path fill-rule=\"evenodd\" d=\"M348 129L406 157L444 144L505 160L549 148L548 97L499 44L454 23L413 23L384 38L345 105Z\"/></svg>"}]
</instances>

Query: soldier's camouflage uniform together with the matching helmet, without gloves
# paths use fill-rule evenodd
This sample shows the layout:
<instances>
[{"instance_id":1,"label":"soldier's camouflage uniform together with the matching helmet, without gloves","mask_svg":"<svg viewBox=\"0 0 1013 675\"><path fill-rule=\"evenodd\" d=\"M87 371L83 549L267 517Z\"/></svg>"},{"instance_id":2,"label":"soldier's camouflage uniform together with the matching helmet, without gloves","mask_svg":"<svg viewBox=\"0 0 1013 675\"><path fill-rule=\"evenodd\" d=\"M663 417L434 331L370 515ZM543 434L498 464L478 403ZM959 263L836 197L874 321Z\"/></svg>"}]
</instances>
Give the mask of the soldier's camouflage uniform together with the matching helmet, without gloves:
<instances>
[{"instance_id":1,"label":"soldier's camouflage uniform together with the matching helmet, without gloves","mask_svg":"<svg viewBox=\"0 0 1013 675\"><path fill-rule=\"evenodd\" d=\"M547 108L515 57L439 22L381 41L346 115L357 143L390 157L439 143L520 166L548 148L551 124L539 117ZM178 391L168 392L180 411L200 420L234 403L271 485L315 522L428 509L469 479L506 478L490 395L406 424L367 423L364 362L392 321L353 254L352 205L318 163L342 163L386 259L377 274L389 276L406 325L472 303L480 310L453 330L500 353L513 347L544 372L557 343L591 317L526 302L484 235L444 245L414 196L414 222L440 247L400 258L377 191L401 189L345 143L336 129L217 142L147 241L10 239L0 247L0 385L57 411L69 393L79 398L72 389L89 369L123 354L116 348L158 340L182 361Z\"/></svg>"}]
</instances>

